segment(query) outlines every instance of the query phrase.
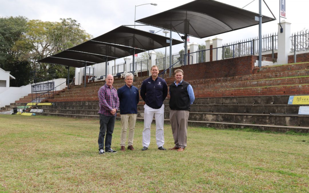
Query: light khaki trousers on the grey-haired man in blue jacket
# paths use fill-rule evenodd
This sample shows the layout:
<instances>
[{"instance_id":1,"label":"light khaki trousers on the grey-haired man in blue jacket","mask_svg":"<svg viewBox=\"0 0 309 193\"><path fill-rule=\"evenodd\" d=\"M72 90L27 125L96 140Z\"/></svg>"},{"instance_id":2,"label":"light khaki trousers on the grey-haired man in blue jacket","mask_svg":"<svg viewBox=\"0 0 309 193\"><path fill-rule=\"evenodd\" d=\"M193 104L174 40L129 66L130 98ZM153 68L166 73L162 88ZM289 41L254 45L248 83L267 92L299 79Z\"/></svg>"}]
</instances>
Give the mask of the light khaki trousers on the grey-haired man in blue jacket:
<instances>
[{"instance_id":1,"label":"light khaki trousers on the grey-haired man in blue jacket","mask_svg":"<svg viewBox=\"0 0 309 193\"><path fill-rule=\"evenodd\" d=\"M121 135L120 135L120 145L121 146L125 146L128 128L129 128L128 146L133 145L136 115L137 114L120 115L120 117L121 117L121 127L122 127L121 128Z\"/></svg>"}]
</instances>

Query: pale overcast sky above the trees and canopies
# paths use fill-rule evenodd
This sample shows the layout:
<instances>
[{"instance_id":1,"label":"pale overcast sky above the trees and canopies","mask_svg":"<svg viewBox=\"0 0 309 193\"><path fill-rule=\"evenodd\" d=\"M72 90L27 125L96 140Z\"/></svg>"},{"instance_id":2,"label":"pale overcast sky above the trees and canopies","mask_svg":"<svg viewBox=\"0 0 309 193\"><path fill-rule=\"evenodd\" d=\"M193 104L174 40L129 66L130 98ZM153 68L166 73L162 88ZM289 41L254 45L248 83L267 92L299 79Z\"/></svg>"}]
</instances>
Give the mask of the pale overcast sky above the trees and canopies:
<instances>
[{"instance_id":1,"label":"pale overcast sky above the trees and canopies","mask_svg":"<svg viewBox=\"0 0 309 193\"><path fill-rule=\"evenodd\" d=\"M247 5L252 0L217 0L232 6L240 7ZM191 2L190 0L0 0L0 16L25 16L28 19L40 19L42 21L59 21L60 18L72 18L81 24L82 28L94 37L102 35L121 25L134 24L135 5L145 3L157 3L158 6L142 5L136 7L136 19L141 19L150 15L169 10L176 6ZM269 34L278 30L279 23L279 0L265 0L276 21L262 24L262 34ZM309 29L308 25L308 7L309 0L286 0L286 18L291 24L291 32L297 32L304 28ZM244 9L258 13L258 0L252 2ZM271 13L262 1L262 14L272 17ZM138 24L138 23L137 23ZM137 26L138 29L149 31L159 31L155 27ZM164 35L162 31L159 35ZM173 33L173 38L180 37ZM258 26L248 27L241 30L217 35L223 39L223 43L237 41L241 39L258 36ZM210 39L214 37L208 37ZM204 39L190 37L190 42L199 44L205 43ZM182 45L183 46L183 45ZM176 48L177 49L177 48ZM173 53L178 52L173 48ZM175 51L174 51L175 50Z\"/></svg>"}]
</instances>

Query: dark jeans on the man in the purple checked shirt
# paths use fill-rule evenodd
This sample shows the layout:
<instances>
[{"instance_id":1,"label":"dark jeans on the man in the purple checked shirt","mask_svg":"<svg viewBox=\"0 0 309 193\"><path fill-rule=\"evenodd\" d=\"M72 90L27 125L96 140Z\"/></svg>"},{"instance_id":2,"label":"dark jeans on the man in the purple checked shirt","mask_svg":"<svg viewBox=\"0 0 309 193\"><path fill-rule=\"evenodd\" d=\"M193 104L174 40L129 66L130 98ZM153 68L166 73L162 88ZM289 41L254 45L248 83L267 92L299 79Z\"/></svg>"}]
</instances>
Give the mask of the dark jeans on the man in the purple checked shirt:
<instances>
[{"instance_id":1,"label":"dark jeans on the man in the purple checked shirt","mask_svg":"<svg viewBox=\"0 0 309 193\"><path fill-rule=\"evenodd\" d=\"M99 150L104 149L104 136L105 136L105 151L108 151L111 149L112 145L112 134L114 131L114 125L115 125L115 119L116 116L106 116L106 115L100 115L100 132L99 132Z\"/></svg>"}]
</instances>

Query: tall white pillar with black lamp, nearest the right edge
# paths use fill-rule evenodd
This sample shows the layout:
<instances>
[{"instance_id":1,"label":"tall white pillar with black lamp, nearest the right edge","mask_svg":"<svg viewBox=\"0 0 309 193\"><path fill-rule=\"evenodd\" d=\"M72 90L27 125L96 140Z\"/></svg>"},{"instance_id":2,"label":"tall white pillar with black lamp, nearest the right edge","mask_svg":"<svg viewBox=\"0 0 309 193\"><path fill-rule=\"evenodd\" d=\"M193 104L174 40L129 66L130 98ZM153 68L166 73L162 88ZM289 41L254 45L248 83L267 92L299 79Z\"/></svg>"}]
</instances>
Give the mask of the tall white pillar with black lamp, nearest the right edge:
<instances>
[{"instance_id":1,"label":"tall white pillar with black lamp, nearest the right edge","mask_svg":"<svg viewBox=\"0 0 309 193\"><path fill-rule=\"evenodd\" d=\"M287 64L288 54L291 51L290 33L291 33L291 23L285 20L281 21L281 26L283 28L283 33L280 33L280 25L278 23L278 58L277 64Z\"/></svg>"}]
</instances>

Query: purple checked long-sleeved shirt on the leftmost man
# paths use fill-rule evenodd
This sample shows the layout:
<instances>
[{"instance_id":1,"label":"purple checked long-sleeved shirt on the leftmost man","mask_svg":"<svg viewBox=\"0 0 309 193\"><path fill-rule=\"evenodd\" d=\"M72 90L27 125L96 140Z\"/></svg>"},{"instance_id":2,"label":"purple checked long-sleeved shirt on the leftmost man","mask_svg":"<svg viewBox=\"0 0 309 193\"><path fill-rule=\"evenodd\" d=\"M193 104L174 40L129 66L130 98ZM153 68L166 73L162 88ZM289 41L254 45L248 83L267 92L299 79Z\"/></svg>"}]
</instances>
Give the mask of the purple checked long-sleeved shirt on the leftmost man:
<instances>
[{"instance_id":1,"label":"purple checked long-sleeved shirt on the leftmost man","mask_svg":"<svg viewBox=\"0 0 309 193\"><path fill-rule=\"evenodd\" d=\"M110 88L107 84L99 89L99 114L112 116L113 109L119 110L119 98L117 90L112 86Z\"/></svg>"}]
</instances>

